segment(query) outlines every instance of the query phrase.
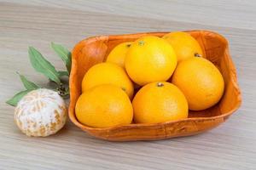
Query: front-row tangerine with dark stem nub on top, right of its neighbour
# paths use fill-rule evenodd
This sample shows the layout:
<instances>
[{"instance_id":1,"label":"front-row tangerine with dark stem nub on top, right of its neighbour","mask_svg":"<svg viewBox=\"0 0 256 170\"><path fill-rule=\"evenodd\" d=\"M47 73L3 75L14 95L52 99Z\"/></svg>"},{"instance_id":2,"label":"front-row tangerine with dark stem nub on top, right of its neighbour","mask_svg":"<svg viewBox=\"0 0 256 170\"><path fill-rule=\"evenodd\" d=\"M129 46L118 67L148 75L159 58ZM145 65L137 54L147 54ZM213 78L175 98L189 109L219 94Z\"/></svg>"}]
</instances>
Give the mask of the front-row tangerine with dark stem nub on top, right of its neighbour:
<instances>
[{"instance_id":1,"label":"front-row tangerine with dark stem nub on top, right of its neighbour","mask_svg":"<svg viewBox=\"0 0 256 170\"><path fill-rule=\"evenodd\" d=\"M151 82L141 88L133 101L134 120L157 123L188 117L188 102L183 93L170 82Z\"/></svg>"}]
</instances>

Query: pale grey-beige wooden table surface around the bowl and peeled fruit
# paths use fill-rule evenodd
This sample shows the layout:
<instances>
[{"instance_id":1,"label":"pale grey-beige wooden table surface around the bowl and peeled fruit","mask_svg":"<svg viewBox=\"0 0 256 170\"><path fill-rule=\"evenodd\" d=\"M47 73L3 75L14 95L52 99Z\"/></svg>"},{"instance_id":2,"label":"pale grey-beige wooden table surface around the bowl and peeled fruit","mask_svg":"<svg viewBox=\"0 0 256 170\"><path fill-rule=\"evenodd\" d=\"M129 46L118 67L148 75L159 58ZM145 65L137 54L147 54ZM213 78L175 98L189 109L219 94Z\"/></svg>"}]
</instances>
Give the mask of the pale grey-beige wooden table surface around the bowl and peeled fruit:
<instances>
[{"instance_id":1,"label":"pale grey-beige wooden table surface around the bowl and peeled fruit","mask_svg":"<svg viewBox=\"0 0 256 170\"><path fill-rule=\"evenodd\" d=\"M72 49L84 37L141 31L208 29L230 42L242 105L219 127L196 136L160 141L108 142L72 122L48 138L29 138L5 104L23 89L15 71L44 86L27 48L38 48L57 69L49 48ZM256 169L256 3L174 0L0 0L0 169Z\"/></svg>"}]
</instances>

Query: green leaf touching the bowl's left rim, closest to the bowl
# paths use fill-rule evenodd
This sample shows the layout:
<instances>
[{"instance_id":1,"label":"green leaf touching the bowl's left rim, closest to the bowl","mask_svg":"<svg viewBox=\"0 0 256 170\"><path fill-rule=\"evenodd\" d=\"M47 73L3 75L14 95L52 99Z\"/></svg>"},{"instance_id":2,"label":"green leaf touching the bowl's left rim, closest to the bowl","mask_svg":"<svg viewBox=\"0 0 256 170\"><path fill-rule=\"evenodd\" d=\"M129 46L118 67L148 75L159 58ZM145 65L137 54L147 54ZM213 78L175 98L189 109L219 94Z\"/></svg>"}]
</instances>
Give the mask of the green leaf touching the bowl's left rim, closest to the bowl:
<instances>
[{"instance_id":1,"label":"green leaf touching the bowl's left rim, closest to the bowl","mask_svg":"<svg viewBox=\"0 0 256 170\"><path fill-rule=\"evenodd\" d=\"M55 53L58 54L61 59L65 62L68 73L71 70L71 53L67 48L63 47L61 44L56 44L55 42L50 43L51 48L55 50Z\"/></svg>"}]
</instances>

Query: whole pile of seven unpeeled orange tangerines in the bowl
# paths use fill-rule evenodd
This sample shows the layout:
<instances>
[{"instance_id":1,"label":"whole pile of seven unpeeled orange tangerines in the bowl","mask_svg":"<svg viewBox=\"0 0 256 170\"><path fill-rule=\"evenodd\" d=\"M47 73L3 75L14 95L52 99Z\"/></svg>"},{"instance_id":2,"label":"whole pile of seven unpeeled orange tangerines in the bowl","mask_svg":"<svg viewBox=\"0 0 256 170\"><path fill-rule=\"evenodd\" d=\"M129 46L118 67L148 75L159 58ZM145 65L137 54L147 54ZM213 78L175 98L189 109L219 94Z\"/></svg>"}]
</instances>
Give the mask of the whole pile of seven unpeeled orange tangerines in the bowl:
<instances>
[{"instance_id":1,"label":"whole pile of seven unpeeled orange tangerines in the bowl","mask_svg":"<svg viewBox=\"0 0 256 170\"><path fill-rule=\"evenodd\" d=\"M84 75L76 103L89 127L185 119L218 103L224 79L186 32L123 42Z\"/></svg>"}]
</instances>

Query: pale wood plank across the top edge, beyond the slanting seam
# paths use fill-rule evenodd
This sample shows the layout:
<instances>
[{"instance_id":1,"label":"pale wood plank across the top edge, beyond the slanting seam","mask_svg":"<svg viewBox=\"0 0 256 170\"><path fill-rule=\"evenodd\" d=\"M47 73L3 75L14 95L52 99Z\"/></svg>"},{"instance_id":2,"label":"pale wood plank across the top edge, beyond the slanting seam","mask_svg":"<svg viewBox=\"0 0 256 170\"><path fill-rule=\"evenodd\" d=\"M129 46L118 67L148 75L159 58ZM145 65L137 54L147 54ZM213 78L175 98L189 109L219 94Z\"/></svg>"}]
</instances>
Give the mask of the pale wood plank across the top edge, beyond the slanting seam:
<instances>
[{"instance_id":1,"label":"pale wood plank across the top edge, beyond the slanting seam","mask_svg":"<svg viewBox=\"0 0 256 170\"><path fill-rule=\"evenodd\" d=\"M196 2L193 0L111 0L108 2L105 0L75 2L73 0L14 0L12 2L137 18L204 23L210 26L247 29L253 29L256 26L256 3L254 0L197 0Z\"/></svg>"}]
</instances>

